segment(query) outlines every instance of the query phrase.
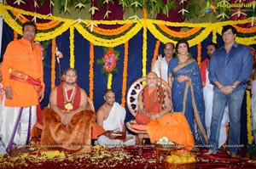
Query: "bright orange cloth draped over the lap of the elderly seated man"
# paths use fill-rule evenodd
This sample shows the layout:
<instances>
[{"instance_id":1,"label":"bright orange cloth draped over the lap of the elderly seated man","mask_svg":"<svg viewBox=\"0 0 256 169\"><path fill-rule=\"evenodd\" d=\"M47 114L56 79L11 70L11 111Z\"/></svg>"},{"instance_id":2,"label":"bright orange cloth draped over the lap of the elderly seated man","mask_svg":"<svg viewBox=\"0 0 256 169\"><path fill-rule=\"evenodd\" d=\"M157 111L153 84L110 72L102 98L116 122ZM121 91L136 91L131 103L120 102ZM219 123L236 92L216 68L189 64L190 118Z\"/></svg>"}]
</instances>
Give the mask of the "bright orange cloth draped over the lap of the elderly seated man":
<instances>
[{"instance_id":1,"label":"bright orange cloth draped over the lap of the elderly seated man","mask_svg":"<svg viewBox=\"0 0 256 169\"><path fill-rule=\"evenodd\" d=\"M159 120L151 120L147 125L147 131L151 143L166 137L189 150L195 145L189 123L183 113L169 113L162 115Z\"/></svg>"}]
</instances>

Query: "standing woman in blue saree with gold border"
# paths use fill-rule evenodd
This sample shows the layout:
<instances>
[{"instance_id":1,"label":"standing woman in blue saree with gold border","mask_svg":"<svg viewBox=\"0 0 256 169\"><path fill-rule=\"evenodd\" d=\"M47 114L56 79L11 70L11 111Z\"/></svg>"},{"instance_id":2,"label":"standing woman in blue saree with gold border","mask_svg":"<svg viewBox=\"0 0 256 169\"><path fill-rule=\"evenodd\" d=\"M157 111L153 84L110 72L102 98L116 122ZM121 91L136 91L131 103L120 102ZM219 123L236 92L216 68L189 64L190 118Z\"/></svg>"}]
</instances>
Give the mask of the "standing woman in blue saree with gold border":
<instances>
[{"instance_id":1,"label":"standing woman in blue saree with gold border","mask_svg":"<svg viewBox=\"0 0 256 169\"><path fill-rule=\"evenodd\" d=\"M183 39L176 45L177 57L168 66L168 81L172 88L174 112L182 112L189 122L197 146L208 143L205 125L205 104L200 69L189 56L189 43Z\"/></svg>"}]
</instances>

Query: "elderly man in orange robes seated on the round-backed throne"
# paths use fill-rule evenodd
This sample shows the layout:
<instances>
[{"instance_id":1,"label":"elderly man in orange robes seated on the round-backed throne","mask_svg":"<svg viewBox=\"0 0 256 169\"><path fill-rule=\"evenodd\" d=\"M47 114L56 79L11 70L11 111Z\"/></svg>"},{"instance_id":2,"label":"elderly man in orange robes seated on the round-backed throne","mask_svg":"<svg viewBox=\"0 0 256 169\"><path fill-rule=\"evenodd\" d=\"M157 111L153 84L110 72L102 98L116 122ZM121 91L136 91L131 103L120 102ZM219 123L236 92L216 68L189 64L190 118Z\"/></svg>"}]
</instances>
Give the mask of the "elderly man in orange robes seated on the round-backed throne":
<instances>
[{"instance_id":1,"label":"elderly man in orange robes seated on the round-backed throne","mask_svg":"<svg viewBox=\"0 0 256 169\"><path fill-rule=\"evenodd\" d=\"M170 113L172 101L165 88L158 86L157 75L149 72L147 85L138 95L138 110L135 119L138 124L147 124L150 142L154 144L160 138L169 138L176 144L192 149L195 141L189 123L182 113Z\"/></svg>"}]
</instances>

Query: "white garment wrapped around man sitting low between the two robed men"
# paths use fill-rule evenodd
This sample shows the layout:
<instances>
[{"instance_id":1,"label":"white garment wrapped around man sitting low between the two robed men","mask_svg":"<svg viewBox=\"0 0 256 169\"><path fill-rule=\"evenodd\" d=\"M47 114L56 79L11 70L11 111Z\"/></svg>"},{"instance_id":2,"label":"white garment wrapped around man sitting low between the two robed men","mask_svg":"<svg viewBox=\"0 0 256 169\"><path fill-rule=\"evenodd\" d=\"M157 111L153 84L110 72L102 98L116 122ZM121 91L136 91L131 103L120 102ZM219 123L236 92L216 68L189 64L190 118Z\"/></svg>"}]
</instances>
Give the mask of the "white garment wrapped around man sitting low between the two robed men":
<instances>
[{"instance_id":1,"label":"white garment wrapped around man sitting low between the two robed men","mask_svg":"<svg viewBox=\"0 0 256 169\"><path fill-rule=\"evenodd\" d=\"M124 127L126 111L123 106L119 103L115 102L113 104L112 109L109 112L108 118L103 121L103 128L104 130L119 130L122 131ZM127 138L131 138L128 139ZM125 145L134 145L135 144L135 137L131 134L126 134L126 140L119 140L119 139L110 139L104 135L98 137L97 144L105 145L108 147L118 147L118 146L125 146Z\"/></svg>"}]
</instances>

